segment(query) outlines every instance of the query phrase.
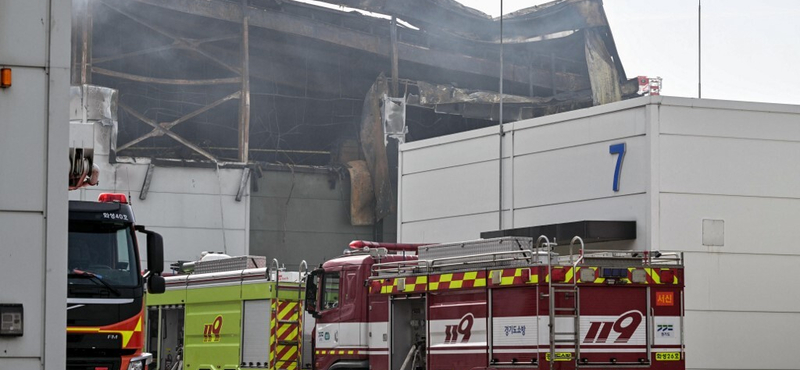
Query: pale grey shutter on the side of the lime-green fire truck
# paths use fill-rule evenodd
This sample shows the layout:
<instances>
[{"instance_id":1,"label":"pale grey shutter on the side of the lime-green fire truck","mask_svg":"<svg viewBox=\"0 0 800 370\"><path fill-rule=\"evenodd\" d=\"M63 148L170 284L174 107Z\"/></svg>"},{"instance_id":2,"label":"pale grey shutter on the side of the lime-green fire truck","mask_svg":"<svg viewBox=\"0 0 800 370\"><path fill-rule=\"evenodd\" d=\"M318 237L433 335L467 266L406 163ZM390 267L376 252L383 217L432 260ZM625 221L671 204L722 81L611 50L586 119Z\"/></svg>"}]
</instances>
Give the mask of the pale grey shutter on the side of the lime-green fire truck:
<instances>
[{"instance_id":1,"label":"pale grey shutter on the side of the lime-green fire truck","mask_svg":"<svg viewBox=\"0 0 800 370\"><path fill-rule=\"evenodd\" d=\"M269 363L269 322L272 311L269 300L244 301L242 318L242 362Z\"/></svg>"}]
</instances>

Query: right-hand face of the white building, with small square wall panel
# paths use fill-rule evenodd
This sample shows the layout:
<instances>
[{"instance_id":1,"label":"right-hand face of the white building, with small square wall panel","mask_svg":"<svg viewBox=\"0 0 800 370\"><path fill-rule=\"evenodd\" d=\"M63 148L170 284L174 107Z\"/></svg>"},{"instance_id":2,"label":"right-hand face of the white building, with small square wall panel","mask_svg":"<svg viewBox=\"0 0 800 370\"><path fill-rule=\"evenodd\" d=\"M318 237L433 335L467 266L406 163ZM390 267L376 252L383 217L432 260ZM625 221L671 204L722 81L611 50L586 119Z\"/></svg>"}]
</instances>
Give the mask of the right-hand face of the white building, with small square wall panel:
<instances>
[{"instance_id":1,"label":"right-hand face of the white building, with small square wall panel","mask_svg":"<svg viewBox=\"0 0 800 370\"><path fill-rule=\"evenodd\" d=\"M686 251L689 365L797 369L800 107L683 103L658 108L658 244ZM724 222L721 246L704 219Z\"/></svg>"}]
</instances>

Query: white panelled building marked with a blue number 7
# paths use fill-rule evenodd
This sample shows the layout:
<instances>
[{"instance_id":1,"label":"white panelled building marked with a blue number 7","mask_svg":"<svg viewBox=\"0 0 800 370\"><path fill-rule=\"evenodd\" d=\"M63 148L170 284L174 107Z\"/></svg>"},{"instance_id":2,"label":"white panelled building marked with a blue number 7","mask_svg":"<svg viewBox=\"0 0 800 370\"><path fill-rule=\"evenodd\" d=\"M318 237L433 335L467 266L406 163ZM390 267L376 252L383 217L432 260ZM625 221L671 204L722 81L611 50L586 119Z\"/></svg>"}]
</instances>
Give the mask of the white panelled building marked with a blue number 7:
<instances>
[{"instance_id":1,"label":"white panelled building marked with a blue number 7","mask_svg":"<svg viewBox=\"0 0 800 370\"><path fill-rule=\"evenodd\" d=\"M652 97L507 124L502 225L498 131L401 146L398 241L635 220L617 247L686 253L688 368L798 368L800 107ZM704 219L723 245L703 244Z\"/></svg>"}]
</instances>

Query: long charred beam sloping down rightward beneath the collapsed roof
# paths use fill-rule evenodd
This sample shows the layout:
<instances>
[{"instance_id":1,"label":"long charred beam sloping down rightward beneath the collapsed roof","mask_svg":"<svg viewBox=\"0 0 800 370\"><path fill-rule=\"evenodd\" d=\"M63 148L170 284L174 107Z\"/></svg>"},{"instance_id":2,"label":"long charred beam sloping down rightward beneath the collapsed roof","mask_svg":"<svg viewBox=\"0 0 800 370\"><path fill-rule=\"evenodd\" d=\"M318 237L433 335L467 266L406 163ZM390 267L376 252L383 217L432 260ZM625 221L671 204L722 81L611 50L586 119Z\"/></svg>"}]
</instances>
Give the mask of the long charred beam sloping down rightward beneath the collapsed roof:
<instances>
[{"instance_id":1,"label":"long charred beam sloping down rightward beneath the collapsed roof","mask_svg":"<svg viewBox=\"0 0 800 370\"><path fill-rule=\"evenodd\" d=\"M124 0L106 0L106 3L120 3ZM214 18L234 23L242 20L241 6L220 0L194 1L194 0L134 0L137 3L148 4L164 9L192 14L196 16ZM251 26L275 30L292 35L308 37L328 43L362 50L390 58L390 42L379 36L366 34L331 24L315 22L310 18L298 17L286 13L265 11L248 7ZM401 60L432 67L447 68L470 74L499 78L499 64L497 61L476 58L472 56L453 54L422 46L398 43L398 56ZM503 78L520 84L528 83L529 67L507 65L504 67ZM536 70L533 73L536 86L550 88L552 79L549 71ZM556 86L561 91L583 90L589 87L585 76L559 73Z\"/></svg>"}]
</instances>

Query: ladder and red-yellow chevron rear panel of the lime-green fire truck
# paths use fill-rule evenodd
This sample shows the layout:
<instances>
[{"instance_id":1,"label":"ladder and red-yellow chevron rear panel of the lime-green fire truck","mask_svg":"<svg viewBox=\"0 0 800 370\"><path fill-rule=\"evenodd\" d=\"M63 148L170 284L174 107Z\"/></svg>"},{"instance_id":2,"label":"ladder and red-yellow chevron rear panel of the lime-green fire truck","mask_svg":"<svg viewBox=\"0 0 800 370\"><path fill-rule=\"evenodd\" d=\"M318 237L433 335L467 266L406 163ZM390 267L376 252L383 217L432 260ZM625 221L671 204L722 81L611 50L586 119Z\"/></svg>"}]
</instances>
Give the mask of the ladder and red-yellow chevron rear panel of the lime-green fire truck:
<instances>
[{"instance_id":1,"label":"ladder and red-yellow chevron rear panel of the lime-green fire truck","mask_svg":"<svg viewBox=\"0 0 800 370\"><path fill-rule=\"evenodd\" d=\"M274 270L273 270L274 266ZM297 300L281 299L281 270L278 260L273 258L270 270L275 271L275 301L272 306L272 315L276 320L276 330L274 332L274 363L271 367L274 370L299 370L302 368L302 344L303 344L303 279L308 270L305 260L300 262L298 268L299 286L284 285L283 288L296 288ZM271 275L271 274L270 274Z\"/></svg>"}]
</instances>

